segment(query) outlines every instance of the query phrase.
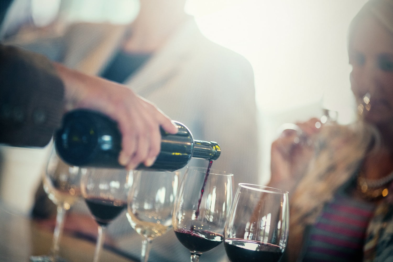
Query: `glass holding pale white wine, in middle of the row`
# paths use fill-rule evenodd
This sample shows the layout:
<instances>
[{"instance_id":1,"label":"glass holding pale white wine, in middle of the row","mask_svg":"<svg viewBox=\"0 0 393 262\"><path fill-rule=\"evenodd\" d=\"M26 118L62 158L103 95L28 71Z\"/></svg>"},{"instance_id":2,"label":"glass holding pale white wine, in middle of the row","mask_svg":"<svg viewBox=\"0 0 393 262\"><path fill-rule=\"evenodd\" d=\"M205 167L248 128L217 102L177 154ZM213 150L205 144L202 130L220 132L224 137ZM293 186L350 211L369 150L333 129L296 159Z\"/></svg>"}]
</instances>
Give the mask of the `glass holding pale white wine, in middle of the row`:
<instances>
[{"instance_id":1,"label":"glass holding pale white wine, in middle of the row","mask_svg":"<svg viewBox=\"0 0 393 262\"><path fill-rule=\"evenodd\" d=\"M131 227L143 236L141 260L147 262L152 240L172 226L172 212L178 189L178 172L139 170L128 196L127 218Z\"/></svg>"}]
</instances>

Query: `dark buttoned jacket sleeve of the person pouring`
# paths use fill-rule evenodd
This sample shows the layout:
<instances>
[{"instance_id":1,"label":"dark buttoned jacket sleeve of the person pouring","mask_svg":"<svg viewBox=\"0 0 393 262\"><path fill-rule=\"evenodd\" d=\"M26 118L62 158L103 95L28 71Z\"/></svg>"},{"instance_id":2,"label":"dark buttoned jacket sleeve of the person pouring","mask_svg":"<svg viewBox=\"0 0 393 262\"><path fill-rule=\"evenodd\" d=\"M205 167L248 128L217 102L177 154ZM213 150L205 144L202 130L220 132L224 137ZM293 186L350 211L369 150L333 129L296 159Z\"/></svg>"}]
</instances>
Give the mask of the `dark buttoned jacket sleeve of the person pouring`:
<instances>
[{"instance_id":1,"label":"dark buttoned jacket sleeve of the person pouring","mask_svg":"<svg viewBox=\"0 0 393 262\"><path fill-rule=\"evenodd\" d=\"M42 55L0 44L0 143L43 147L59 127L64 86Z\"/></svg>"}]
</instances>

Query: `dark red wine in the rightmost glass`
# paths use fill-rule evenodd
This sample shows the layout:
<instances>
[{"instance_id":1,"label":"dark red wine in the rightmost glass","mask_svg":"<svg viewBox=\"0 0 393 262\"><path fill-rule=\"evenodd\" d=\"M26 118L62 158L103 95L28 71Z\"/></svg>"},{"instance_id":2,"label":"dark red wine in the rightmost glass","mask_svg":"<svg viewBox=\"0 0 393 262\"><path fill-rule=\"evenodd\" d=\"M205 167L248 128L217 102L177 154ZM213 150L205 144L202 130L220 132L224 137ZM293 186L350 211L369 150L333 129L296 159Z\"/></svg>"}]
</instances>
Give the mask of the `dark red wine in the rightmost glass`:
<instances>
[{"instance_id":1,"label":"dark red wine in the rightmost glass","mask_svg":"<svg viewBox=\"0 0 393 262\"><path fill-rule=\"evenodd\" d=\"M283 250L276 245L240 238L228 238L224 242L231 262L278 262Z\"/></svg>"}]
</instances>

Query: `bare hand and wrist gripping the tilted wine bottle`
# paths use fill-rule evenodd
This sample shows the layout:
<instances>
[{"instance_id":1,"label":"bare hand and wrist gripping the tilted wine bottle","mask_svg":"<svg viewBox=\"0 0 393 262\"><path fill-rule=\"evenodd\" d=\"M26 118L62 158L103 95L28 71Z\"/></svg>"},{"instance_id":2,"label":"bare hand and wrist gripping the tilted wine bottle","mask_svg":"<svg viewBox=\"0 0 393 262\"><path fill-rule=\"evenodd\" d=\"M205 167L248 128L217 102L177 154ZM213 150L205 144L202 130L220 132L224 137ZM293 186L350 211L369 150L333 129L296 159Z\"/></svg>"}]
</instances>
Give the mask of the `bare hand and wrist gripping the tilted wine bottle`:
<instances>
[{"instance_id":1,"label":"bare hand and wrist gripping the tilted wine bottle","mask_svg":"<svg viewBox=\"0 0 393 262\"><path fill-rule=\"evenodd\" d=\"M78 80L78 92L72 97L75 107L98 110L118 123L122 137L118 161L127 169L154 163L161 147L160 126L177 133L167 115L127 86L81 73L72 79Z\"/></svg>"}]
</instances>

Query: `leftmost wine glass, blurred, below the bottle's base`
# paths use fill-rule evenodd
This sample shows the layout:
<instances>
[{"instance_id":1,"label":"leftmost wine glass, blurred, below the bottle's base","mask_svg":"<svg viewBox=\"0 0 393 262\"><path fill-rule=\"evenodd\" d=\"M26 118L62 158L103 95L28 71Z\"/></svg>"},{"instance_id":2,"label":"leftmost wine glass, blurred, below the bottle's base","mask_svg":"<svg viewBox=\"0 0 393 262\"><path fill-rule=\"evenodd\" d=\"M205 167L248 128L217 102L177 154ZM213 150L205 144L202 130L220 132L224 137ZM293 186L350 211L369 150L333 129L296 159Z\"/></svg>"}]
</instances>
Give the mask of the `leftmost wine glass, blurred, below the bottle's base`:
<instances>
[{"instance_id":1,"label":"leftmost wine glass, blurred, below the bottle's base","mask_svg":"<svg viewBox=\"0 0 393 262\"><path fill-rule=\"evenodd\" d=\"M64 228L66 211L80 196L81 169L64 163L56 153L54 143L43 173L44 190L50 200L57 205L56 225L49 255L31 256L32 262L64 262L59 257L59 243Z\"/></svg>"}]
</instances>

